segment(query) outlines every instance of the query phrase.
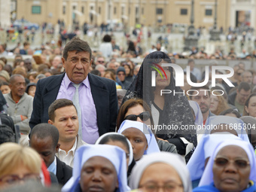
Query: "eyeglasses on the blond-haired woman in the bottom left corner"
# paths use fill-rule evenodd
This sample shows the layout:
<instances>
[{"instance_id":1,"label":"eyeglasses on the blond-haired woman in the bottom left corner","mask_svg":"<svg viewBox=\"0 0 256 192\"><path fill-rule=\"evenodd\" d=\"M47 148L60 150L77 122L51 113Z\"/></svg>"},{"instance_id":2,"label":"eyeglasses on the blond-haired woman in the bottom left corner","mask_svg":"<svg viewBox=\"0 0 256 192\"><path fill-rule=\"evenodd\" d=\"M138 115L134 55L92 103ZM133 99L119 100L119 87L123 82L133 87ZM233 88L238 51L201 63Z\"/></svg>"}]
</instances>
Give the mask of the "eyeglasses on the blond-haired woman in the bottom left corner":
<instances>
[{"instance_id":1,"label":"eyeglasses on the blond-haired woman in the bottom left corner","mask_svg":"<svg viewBox=\"0 0 256 192\"><path fill-rule=\"evenodd\" d=\"M8 183L8 184L14 184L18 181L40 181L41 177L38 174L35 173L28 173L26 175L23 175L22 178L20 178L19 175L4 175L2 178L0 178L0 181Z\"/></svg>"}]
</instances>

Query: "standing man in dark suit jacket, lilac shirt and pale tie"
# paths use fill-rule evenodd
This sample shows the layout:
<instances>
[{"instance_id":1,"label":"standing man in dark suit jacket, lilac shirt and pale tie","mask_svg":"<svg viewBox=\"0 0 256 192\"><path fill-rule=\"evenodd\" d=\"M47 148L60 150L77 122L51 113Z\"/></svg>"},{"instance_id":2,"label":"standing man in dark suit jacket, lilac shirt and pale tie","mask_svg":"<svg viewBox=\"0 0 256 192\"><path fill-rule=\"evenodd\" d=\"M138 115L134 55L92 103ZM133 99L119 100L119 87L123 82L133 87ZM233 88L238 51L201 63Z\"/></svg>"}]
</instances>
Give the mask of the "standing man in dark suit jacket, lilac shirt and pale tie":
<instances>
[{"instance_id":1,"label":"standing man in dark suit jacket, lilac shirt and pale tie","mask_svg":"<svg viewBox=\"0 0 256 192\"><path fill-rule=\"evenodd\" d=\"M86 41L73 38L63 50L62 64L66 73L53 75L38 81L29 122L31 128L38 123L47 123L48 108L56 99L73 100L79 92L81 115L80 133L89 144L94 144L104 133L114 132L117 118L117 92L114 81L88 74L93 60ZM88 77L88 78L87 78ZM78 88L75 88L79 85ZM75 102L74 102L75 103Z\"/></svg>"}]
</instances>

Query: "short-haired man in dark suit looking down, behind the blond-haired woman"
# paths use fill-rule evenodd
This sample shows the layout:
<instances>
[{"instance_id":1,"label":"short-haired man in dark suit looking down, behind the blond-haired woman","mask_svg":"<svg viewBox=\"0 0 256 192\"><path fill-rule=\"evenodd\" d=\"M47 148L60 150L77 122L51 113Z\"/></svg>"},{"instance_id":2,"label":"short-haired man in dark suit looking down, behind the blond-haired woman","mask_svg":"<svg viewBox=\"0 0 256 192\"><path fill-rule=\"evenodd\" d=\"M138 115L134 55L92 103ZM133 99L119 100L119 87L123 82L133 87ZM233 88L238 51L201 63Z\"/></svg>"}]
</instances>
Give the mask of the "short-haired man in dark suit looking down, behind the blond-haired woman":
<instances>
[{"instance_id":1,"label":"short-haired man in dark suit looking down, behind the blond-haired woman","mask_svg":"<svg viewBox=\"0 0 256 192\"><path fill-rule=\"evenodd\" d=\"M30 146L41 155L49 172L53 172L60 185L72 177L72 167L66 165L55 153L59 151L59 131L48 123L40 123L30 134Z\"/></svg>"}]
</instances>

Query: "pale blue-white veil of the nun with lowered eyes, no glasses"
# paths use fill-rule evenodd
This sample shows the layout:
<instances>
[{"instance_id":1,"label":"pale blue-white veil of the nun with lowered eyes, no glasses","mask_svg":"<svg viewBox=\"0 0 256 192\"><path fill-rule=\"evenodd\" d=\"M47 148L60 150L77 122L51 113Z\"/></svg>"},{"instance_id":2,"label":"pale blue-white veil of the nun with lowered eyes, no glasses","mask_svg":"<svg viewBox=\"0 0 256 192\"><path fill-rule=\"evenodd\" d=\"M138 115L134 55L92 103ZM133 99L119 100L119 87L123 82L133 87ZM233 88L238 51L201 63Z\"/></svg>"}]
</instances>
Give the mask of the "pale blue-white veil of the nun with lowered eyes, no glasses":
<instances>
[{"instance_id":1,"label":"pale blue-white veil of the nun with lowered eyes, no glasses","mask_svg":"<svg viewBox=\"0 0 256 192\"><path fill-rule=\"evenodd\" d=\"M105 157L113 164L119 183L117 191L126 192L130 190L130 187L127 186L126 155L123 149L113 145L84 145L75 152L72 178L62 187L62 192L75 191L75 187L79 184L84 163L95 156Z\"/></svg>"}]
</instances>

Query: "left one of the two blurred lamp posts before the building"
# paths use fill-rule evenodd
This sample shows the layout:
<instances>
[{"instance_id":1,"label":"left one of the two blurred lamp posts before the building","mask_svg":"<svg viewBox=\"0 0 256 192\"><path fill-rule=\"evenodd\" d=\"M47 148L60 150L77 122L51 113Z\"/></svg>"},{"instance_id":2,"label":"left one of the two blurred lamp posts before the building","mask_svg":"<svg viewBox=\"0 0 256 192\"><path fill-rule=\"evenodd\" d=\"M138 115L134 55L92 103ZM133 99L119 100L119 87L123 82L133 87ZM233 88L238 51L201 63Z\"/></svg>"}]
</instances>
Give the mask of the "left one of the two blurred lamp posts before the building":
<instances>
[{"instance_id":1,"label":"left one of the two blurred lamp posts before the building","mask_svg":"<svg viewBox=\"0 0 256 192\"><path fill-rule=\"evenodd\" d=\"M197 47L198 37L195 35L194 28L194 0L191 1L190 26L188 27L188 35L184 41L184 50L192 50L192 47Z\"/></svg>"}]
</instances>

